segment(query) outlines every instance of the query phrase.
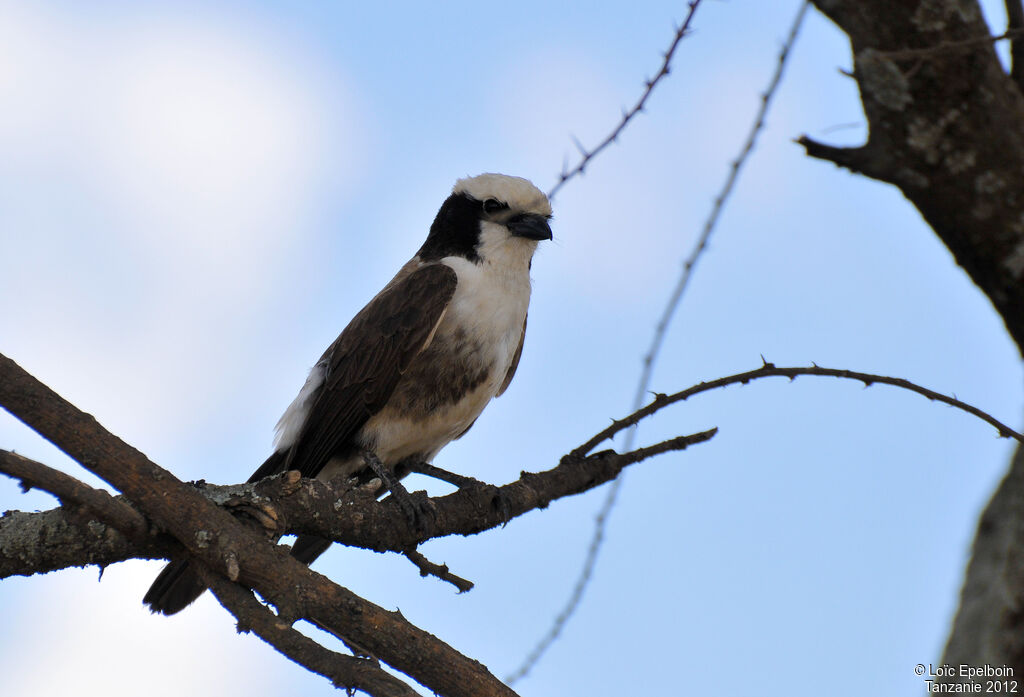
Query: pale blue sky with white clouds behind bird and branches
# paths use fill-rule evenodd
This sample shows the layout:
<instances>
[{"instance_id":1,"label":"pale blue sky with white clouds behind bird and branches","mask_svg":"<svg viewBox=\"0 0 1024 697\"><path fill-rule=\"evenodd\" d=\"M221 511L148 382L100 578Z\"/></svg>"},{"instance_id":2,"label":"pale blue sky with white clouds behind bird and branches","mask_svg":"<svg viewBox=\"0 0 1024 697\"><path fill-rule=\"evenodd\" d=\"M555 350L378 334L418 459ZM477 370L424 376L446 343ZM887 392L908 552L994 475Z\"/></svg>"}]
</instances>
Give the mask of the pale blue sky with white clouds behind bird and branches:
<instances>
[{"instance_id":1,"label":"pale blue sky with white clouds behind bird and branches","mask_svg":"<svg viewBox=\"0 0 1024 697\"><path fill-rule=\"evenodd\" d=\"M244 480L455 180L549 188L685 13L366 5L0 1L0 350L182 478ZM797 5L701 7L647 114L554 201L516 380L438 465L504 483L628 411ZM1016 348L916 212L792 142L862 141L849 68L810 14L652 387L764 354L907 378L1020 426ZM913 666L940 656L1010 443L915 395L823 379L705 395L638 438L711 426L712 443L629 472L584 606L516 689L920 694ZM97 483L5 413L0 445ZM339 549L316 568L504 676L567 597L603 493L427 544L476 582L467 595L393 556ZM0 480L2 510L51 505ZM148 615L159 567L0 583L5 694L335 694L208 597Z\"/></svg>"}]
</instances>

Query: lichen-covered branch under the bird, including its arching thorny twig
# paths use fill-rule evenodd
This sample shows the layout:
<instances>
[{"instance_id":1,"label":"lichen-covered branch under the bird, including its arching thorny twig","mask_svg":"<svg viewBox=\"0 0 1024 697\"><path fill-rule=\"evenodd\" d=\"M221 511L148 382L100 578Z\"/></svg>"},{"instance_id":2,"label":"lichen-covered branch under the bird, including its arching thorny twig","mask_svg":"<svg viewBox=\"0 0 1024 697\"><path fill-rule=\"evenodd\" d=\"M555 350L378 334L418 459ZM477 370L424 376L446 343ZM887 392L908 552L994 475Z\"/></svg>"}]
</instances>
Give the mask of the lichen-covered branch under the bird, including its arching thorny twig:
<instances>
[{"instance_id":1,"label":"lichen-covered branch under the bird, including its arching thorny twig","mask_svg":"<svg viewBox=\"0 0 1024 697\"><path fill-rule=\"evenodd\" d=\"M670 404L728 385L771 377L794 380L799 376L855 380L864 385L873 383L892 385L972 413L992 425L1000 436L1024 439L1024 436L977 407L900 378L818 365L776 367L766 363L757 369L699 383L672 395L657 395L650 404L613 422L608 428L572 450L551 470L540 473L523 472L518 480L501 487L469 480L458 491L429 499L423 492L414 492L411 495L419 498L420 503L432 512L432 515L425 516L424 520L420 521L419 526L411 525L394 502L377 502L366 492L346 488L340 483L297 480L294 473L270 477L255 484L215 486L204 483L198 490L193 491L213 503L230 508L244 507L247 510L263 511L263 525L273 535L309 533L375 552L404 553L415 550L417 544L433 537L474 534L504 525L509 519L535 509L546 508L557 498L581 493L610 481L624 468L645 458L668 449L681 449L714 436L715 431L712 430L622 454L613 450L588 454L602 441L612 438L616 433ZM116 554L112 554L108 550L111 534L109 531L94 534L89 527L69 527L61 510L42 514L13 515L17 517L16 522L13 518L10 521L7 518L0 520L0 552L4 553L0 555L0 577L15 573L32 573L35 569L52 570L61 566L112 563L132 556L155 557L160 556L161 550L166 555L168 551L174 549L173 544L166 540L161 547L159 537L138 548L132 548L128 540L120 539ZM32 559L38 566L33 567L18 562L18 554L7 552L9 547L7 540L25 539L26 535L33 538L25 531L38 527L41 523L37 519L49 521L49 524L45 543L42 546L37 543L35 547L51 550L55 559L41 559L37 550ZM231 520L232 523L236 522L233 518ZM77 549L78 553L69 554L65 550L69 544ZM25 547L23 544L19 549ZM93 561L94 558L99 561Z\"/></svg>"}]
</instances>

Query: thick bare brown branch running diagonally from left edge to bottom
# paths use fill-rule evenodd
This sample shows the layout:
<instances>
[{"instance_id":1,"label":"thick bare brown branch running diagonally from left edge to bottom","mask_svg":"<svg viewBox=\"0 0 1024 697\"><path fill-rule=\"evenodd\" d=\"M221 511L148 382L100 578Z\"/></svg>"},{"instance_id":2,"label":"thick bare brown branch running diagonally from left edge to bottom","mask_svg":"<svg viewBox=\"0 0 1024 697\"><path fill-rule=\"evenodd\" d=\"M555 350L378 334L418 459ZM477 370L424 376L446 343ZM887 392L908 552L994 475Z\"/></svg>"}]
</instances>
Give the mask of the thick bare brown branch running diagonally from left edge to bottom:
<instances>
[{"instance_id":1,"label":"thick bare brown branch running diagonally from left edge to bottom","mask_svg":"<svg viewBox=\"0 0 1024 697\"><path fill-rule=\"evenodd\" d=\"M280 614L332 627L439 694L515 694L478 662L398 613L333 583L269 543L3 355L0 404L119 488L208 569L257 590Z\"/></svg>"}]
</instances>

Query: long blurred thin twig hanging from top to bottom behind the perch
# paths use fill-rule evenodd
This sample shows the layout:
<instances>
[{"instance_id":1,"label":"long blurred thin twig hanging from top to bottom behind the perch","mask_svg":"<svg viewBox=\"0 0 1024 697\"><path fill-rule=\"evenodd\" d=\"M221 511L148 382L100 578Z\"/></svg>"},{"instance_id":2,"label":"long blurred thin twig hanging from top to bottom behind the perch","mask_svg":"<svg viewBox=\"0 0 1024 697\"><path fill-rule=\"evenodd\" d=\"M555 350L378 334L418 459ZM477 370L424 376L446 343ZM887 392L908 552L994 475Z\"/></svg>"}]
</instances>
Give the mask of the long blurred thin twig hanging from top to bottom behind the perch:
<instances>
[{"instance_id":1,"label":"long blurred thin twig hanging from top to bottom behind the perch","mask_svg":"<svg viewBox=\"0 0 1024 697\"><path fill-rule=\"evenodd\" d=\"M772 75L771 82L768 84L768 89L765 90L764 94L761 95L761 105L758 108L757 116L754 120L754 126L751 128L746 136L746 141L743 143L742 148L739 151L738 157L732 162L732 166L729 170L729 174L726 177L725 183L719 194L715 198L715 203L712 206L711 212L708 215L708 219L705 221L703 228L700 232L700 237L697 239L696 245L693 247L690 254L683 261L683 270L679 276L679 280L676 284L675 289L672 291L672 295L669 297L669 302L666 304L665 311L662 313L662 317L654 329L654 336L651 339L650 348L643 358L643 367L640 374L640 380L637 384L636 396L633 400L633 408L637 409L643 403L644 396L647 394L647 390L650 385L650 377L653 372L654 361L660 351L662 344L665 342L666 333L669 328L669 323L672 321L672 317L676 313L676 309L679 307L680 300L683 297L683 293L689 286L690 277L693 272L693 268L696 266L697 261L700 256L708 249L708 241L711 238L712 232L715 229L718 219L722 213L722 209L725 202L728 200L729 194L736 183L736 179L739 176L739 171L746 162L751 153L754 150L754 144L757 142L758 133L764 128L765 116L768 113L768 106L771 103L772 97L778 89L779 82L782 79L782 73L785 69L786 60L790 57L790 52L796 43L797 36L800 33L800 27L804 21L804 16L807 13L807 9L810 3L804 1L800 5L800 9L797 11L797 16L794 18L793 25L790 28L790 34L782 44L782 49L779 51L778 63L775 67L775 73ZM691 7L692 11L692 7ZM644 95L646 97L646 95ZM625 124L624 124L625 125ZM617 133L616 133L617 134ZM613 134L613 135L616 135ZM606 141L607 142L607 141ZM581 163L581 166L586 164L586 160ZM582 171L582 169L581 169ZM559 186L561 182L559 182ZM557 186L554 190L557 190ZM626 442L626 447L632 447L633 432L630 432L628 440ZM516 668L505 682L509 685L514 684L520 678L525 676L532 666L540 660L544 652L547 651L548 647L558 638L562 631L562 627L568 621L569 617L575 611L577 606L579 606L580 601L583 599L584 591L587 584L590 582L590 578L594 572L594 566L597 563L597 556L601 550L601 544L604 539L604 526L608 520L608 516L611 513L612 508L614 508L615 500L618 497L618 491L622 488L622 477L615 479L608 487L608 492L604 497L604 502L601 505L597 516L594 519L594 534L591 537L590 546L587 549L587 557L584 560L583 568L580 571L580 575L577 578L577 582L572 587L572 592L569 594L569 598L563 606L561 612L555 617L554 622L548 633L541 639L541 641L534 647L526 658L523 660L522 664Z\"/></svg>"}]
</instances>

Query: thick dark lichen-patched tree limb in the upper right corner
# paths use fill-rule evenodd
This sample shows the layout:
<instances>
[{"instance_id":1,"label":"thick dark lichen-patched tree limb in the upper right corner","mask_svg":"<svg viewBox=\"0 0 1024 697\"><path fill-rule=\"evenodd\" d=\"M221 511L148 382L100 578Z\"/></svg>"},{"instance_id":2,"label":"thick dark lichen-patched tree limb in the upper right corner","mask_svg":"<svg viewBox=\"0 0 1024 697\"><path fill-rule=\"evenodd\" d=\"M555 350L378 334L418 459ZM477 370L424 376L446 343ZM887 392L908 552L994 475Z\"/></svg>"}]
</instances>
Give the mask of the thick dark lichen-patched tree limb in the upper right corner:
<instances>
[{"instance_id":1,"label":"thick dark lichen-patched tree limb in the upper right corner","mask_svg":"<svg viewBox=\"0 0 1024 697\"><path fill-rule=\"evenodd\" d=\"M898 186L1024 352L1024 93L1002 71L978 3L814 4L850 37L869 136L857 148L805 137L808 155ZM1012 32L1014 21L1012 12Z\"/></svg>"}]
</instances>

